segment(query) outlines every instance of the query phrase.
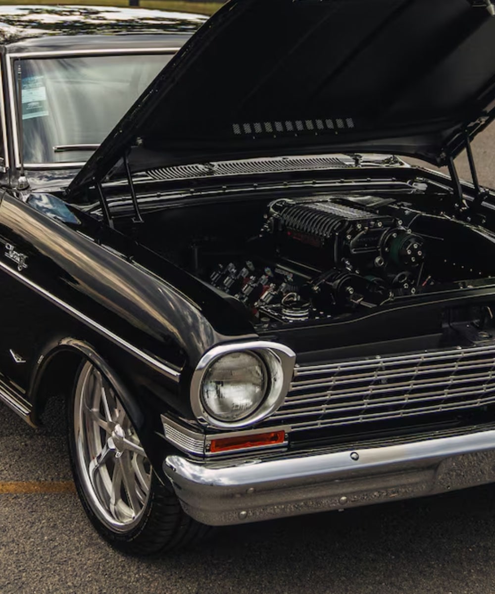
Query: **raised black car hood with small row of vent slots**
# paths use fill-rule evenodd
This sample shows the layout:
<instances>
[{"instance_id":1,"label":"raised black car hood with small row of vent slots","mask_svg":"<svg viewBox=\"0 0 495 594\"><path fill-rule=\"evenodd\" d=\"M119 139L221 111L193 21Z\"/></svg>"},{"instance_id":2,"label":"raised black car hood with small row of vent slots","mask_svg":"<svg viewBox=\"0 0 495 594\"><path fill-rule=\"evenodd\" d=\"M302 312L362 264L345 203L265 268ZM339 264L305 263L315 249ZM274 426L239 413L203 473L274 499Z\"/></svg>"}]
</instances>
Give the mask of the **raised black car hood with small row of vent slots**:
<instances>
[{"instance_id":1,"label":"raised black car hood with small row of vent slots","mask_svg":"<svg viewBox=\"0 0 495 594\"><path fill-rule=\"evenodd\" d=\"M70 189L178 163L384 152L437 165L495 115L490 0L231 0ZM120 162L120 163L119 163Z\"/></svg>"}]
</instances>

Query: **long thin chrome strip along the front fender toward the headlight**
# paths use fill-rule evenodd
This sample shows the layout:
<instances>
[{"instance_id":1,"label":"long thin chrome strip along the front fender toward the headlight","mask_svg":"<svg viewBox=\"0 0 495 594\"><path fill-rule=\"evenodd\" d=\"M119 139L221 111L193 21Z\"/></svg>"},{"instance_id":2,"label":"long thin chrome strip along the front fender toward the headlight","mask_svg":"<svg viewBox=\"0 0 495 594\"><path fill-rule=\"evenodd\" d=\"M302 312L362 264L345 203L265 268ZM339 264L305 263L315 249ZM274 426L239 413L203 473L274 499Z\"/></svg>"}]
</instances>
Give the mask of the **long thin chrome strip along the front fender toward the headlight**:
<instances>
[{"instance_id":1,"label":"long thin chrome strip along the front fender toward the headlight","mask_svg":"<svg viewBox=\"0 0 495 594\"><path fill-rule=\"evenodd\" d=\"M72 307L72 305L65 303L65 301L62 301L55 295L52 295L52 293L50 293L46 289L43 289L43 287L40 287L32 280L28 279L26 276L19 273L17 270L13 270L12 268L10 268L10 266L7 266L7 264L5 264L2 261L0 261L0 268L7 272L7 274L13 276L15 279L20 280L20 282L24 285L31 287L37 293L43 295L43 297L51 301L53 304L57 305L59 308L64 309L71 315L74 315L74 317L78 318L78 320L82 321L84 324L87 324L87 326L91 326L93 330L96 330L99 334L108 337L110 340L112 340L113 343L127 350L128 353L131 353L132 355L135 355L139 359L141 359L141 361L149 365L152 365L155 369L165 374L166 377L168 377L170 380L174 380L177 383L180 380L181 373L179 371L158 361L152 356L147 355L147 353L143 352L142 350L137 349L134 345L128 343L127 340L122 339L120 336L117 336L117 334L114 334L111 330L108 330L108 328L105 328L101 324L87 317L87 315L78 311L78 309Z\"/></svg>"}]
</instances>

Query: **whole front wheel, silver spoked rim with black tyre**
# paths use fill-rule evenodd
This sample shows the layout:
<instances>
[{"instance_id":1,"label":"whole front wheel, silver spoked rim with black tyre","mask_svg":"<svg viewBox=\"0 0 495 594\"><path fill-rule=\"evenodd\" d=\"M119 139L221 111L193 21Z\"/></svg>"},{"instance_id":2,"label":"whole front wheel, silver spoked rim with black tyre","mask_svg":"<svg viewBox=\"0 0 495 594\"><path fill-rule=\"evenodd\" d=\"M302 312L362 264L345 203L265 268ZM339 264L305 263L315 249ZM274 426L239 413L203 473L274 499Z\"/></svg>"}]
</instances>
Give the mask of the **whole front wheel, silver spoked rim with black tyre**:
<instances>
[{"instance_id":1,"label":"whole front wheel, silver spoked rim with black tyre","mask_svg":"<svg viewBox=\"0 0 495 594\"><path fill-rule=\"evenodd\" d=\"M146 456L115 389L89 361L68 406L75 486L89 519L115 548L157 555L203 536L207 527L182 510Z\"/></svg>"}]
</instances>

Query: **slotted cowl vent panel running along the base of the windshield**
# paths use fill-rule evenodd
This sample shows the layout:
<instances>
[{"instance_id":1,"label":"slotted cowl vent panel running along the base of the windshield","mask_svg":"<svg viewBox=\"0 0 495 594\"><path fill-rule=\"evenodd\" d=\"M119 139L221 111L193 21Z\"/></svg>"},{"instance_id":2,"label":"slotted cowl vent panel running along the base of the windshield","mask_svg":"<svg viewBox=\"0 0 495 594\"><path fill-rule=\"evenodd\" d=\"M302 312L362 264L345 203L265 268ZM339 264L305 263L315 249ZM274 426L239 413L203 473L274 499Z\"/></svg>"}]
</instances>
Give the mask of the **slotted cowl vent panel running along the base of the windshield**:
<instances>
[{"instance_id":1,"label":"slotted cowl vent panel running along the base of the windshield","mask_svg":"<svg viewBox=\"0 0 495 594\"><path fill-rule=\"evenodd\" d=\"M273 157L266 159L245 159L239 161L218 161L215 163L194 163L172 167L149 169L152 179L191 179L199 177L221 177L229 175L253 175L256 173L282 173L305 171L307 169L365 168L367 166L403 165L394 157L359 157L346 155L324 155L316 157Z\"/></svg>"}]
</instances>

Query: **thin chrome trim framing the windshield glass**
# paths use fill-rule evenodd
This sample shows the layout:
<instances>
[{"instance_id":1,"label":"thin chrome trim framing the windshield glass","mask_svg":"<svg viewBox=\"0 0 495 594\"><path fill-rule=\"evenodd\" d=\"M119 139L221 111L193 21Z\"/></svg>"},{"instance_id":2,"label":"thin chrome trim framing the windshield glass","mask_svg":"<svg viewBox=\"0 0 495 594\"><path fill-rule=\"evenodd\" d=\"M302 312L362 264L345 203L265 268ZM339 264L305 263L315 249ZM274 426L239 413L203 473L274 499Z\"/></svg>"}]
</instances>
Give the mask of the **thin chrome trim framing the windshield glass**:
<instances>
[{"instance_id":1,"label":"thin chrome trim framing the windshield glass","mask_svg":"<svg viewBox=\"0 0 495 594\"><path fill-rule=\"evenodd\" d=\"M58 50L55 52L20 52L8 54L8 68L7 68L7 85L10 103L10 116L12 121L12 140L14 148L15 168L20 169L21 160L19 152L19 137L18 137L18 120L17 120L17 101L15 100L15 84L14 84L14 62L15 60L33 59L33 58L65 58L68 56L121 56L121 55L138 55L138 54L157 54L163 55L175 54L177 48L108 48L108 49L75 49L75 50ZM1 99L0 94L0 99ZM3 114L2 114L3 115ZM124 114L122 114L124 115ZM5 134L5 129L4 129ZM5 136L4 136L5 141ZM65 169L65 168L81 168L86 165L84 162L67 161L62 163L24 163L25 169Z\"/></svg>"}]
</instances>

